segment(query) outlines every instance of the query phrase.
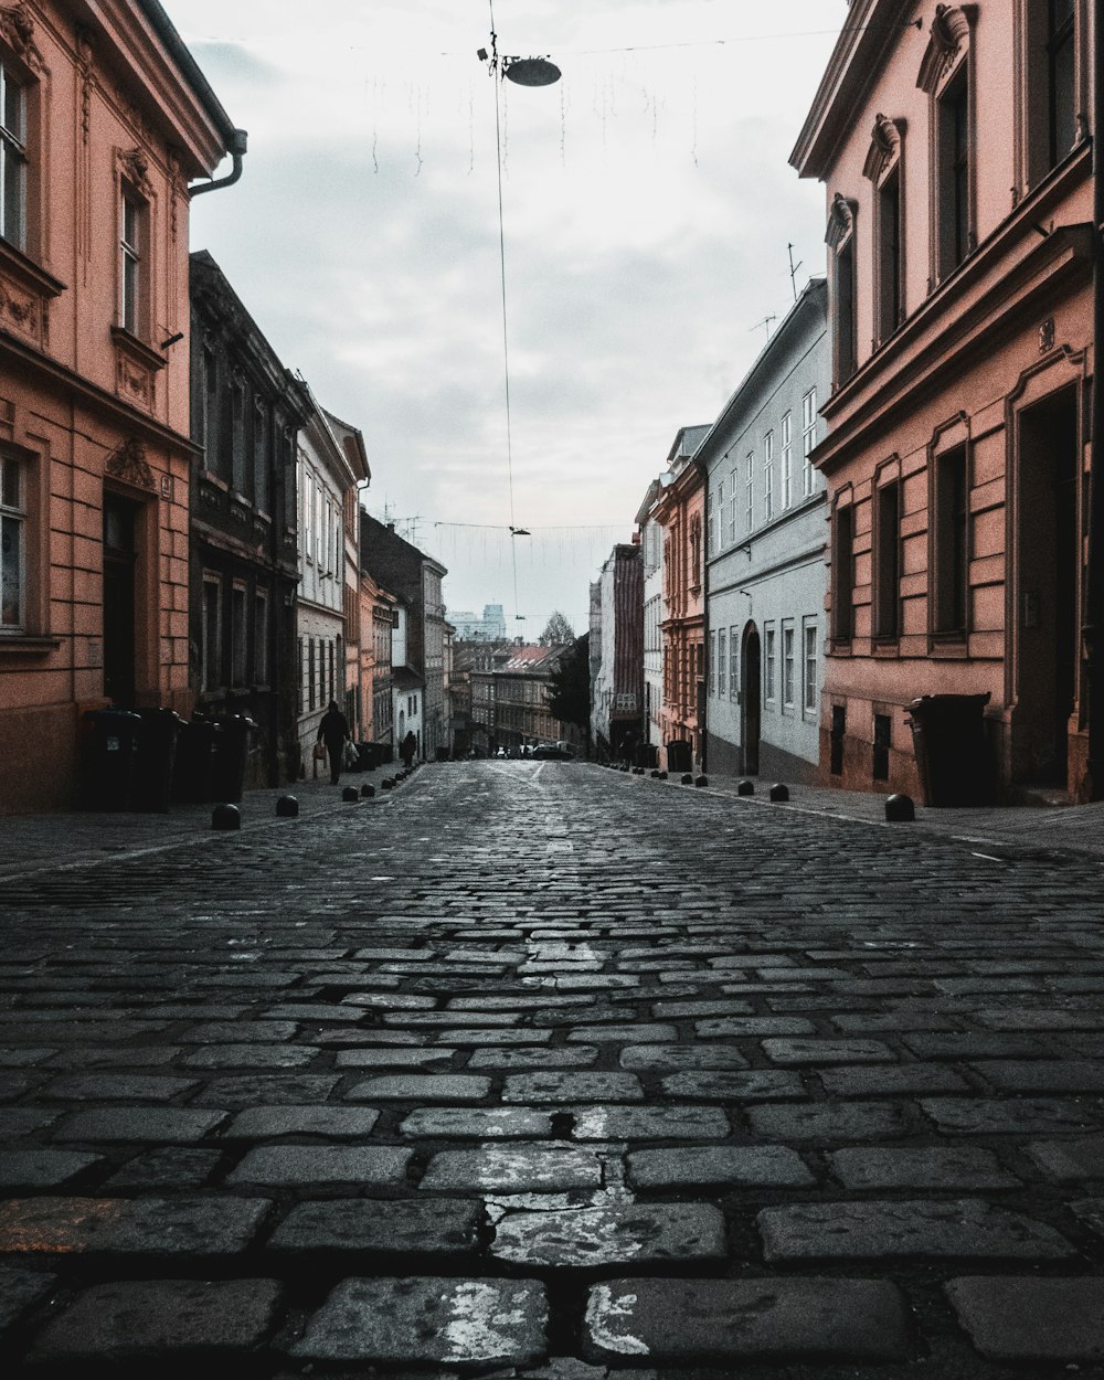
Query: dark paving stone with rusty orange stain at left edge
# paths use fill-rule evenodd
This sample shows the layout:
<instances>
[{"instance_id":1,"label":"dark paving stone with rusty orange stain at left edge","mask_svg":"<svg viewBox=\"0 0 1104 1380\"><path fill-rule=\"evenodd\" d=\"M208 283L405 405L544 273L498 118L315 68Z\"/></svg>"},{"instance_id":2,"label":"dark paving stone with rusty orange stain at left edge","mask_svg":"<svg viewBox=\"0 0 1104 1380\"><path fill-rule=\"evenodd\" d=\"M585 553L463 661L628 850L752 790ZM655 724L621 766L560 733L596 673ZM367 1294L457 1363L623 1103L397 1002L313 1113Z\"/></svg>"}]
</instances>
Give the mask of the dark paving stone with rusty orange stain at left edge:
<instances>
[{"instance_id":1,"label":"dark paving stone with rusty orange stain at left edge","mask_svg":"<svg viewBox=\"0 0 1104 1380\"><path fill-rule=\"evenodd\" d=\"M272 1206L264 1198L12 1198L0 1252L15 1256L235 1256Z\"/></svg>"}]
</instances>

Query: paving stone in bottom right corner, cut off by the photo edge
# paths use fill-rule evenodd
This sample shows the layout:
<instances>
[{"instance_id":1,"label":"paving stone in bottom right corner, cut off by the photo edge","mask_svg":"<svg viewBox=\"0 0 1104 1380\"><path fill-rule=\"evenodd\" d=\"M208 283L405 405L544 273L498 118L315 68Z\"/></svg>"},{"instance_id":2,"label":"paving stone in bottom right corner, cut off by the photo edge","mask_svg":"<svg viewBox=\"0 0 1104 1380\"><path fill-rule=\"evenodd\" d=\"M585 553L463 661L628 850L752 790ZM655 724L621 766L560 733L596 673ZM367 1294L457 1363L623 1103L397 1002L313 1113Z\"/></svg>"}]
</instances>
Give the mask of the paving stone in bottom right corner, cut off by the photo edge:
<instances>
[{"instance_id":1,"label":"paving stone in bottom right corner, cut off by the photo edge","mask_svg":"<svg viewBox=\"0 0 1104 1380\"><path fill-rule=\"evenodd\" d=\"M1060 1365L1104 1359L1104 1279L966 1275L947 1297L989 1361Z\"/></svg>"}]
</instances>

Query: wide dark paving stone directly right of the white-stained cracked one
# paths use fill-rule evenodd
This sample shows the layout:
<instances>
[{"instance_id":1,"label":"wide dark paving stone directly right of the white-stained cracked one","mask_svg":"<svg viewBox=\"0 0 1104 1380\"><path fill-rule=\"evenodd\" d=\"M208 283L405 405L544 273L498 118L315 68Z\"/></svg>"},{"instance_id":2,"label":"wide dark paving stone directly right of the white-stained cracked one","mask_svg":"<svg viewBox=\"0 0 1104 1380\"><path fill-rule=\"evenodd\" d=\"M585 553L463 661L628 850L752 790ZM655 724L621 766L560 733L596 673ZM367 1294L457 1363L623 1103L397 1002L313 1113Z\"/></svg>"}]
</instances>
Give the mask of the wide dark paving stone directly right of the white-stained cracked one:
<instances>
[{"instance_id":1,"label":"wide dark paving stone directly right of the white-stained cracked one","mask_svg":"<svg viewBox=\"0 0 1104 1380\"><path fill-rule=\"evenodd\" d=\"M1053 1227L981 1198L789 1203L756 1217L770 1263L817 1260L1070 1260Z\"/></svg>"}]
</instances>

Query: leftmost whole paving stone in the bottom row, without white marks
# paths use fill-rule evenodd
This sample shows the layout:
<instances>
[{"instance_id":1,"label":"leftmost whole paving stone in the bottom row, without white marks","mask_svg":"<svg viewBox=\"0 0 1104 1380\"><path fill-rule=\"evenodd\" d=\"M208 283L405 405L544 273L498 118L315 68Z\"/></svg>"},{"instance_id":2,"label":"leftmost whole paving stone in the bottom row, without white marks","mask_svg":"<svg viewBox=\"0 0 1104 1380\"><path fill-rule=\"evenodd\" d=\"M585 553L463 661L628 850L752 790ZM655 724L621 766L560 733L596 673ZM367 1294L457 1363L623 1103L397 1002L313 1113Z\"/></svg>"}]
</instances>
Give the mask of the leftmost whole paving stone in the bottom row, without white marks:
<instances>
[{"instance_id":1,"label":"leftmost whole paving stone in the bottom row, without white marks","mask_svg":"<svg viewBox=\"0 0 1104 1380\"><path fill-rule=\"evenodd\" d=\"M95 1285L43 1328L29 1359L40 1365L164 1365L188 1355L230 1363L272 1333L282 1293L275 1279Z\"/></svg>"}]
</instances>

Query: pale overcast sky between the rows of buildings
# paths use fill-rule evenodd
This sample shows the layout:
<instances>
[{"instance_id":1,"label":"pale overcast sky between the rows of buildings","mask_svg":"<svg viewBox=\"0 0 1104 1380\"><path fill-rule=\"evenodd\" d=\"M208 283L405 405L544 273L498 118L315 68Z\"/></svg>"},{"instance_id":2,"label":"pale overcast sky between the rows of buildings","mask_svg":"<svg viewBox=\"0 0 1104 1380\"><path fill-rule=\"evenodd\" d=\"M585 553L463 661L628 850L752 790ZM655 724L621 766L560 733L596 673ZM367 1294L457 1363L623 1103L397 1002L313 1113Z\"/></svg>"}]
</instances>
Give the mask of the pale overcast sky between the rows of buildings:
<instances>
[{"instance_id":1,"label":"pale overcast sky between the rows of buildings","mask_svg":"<svg viewBox=\"0 0 1104 1380\"><path fill-rule=\"evenodd\" d=\"M791 305L787 244L799 288L824 272L824 189L787 159L846 0L497 0L500 54L562 69L542 88L476 57L487 0L164 3L250 135L192 247L363 431L367 506L448 567L450 609L585 631L675 433Z\"/></svg>"}]
</instances>

